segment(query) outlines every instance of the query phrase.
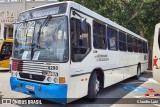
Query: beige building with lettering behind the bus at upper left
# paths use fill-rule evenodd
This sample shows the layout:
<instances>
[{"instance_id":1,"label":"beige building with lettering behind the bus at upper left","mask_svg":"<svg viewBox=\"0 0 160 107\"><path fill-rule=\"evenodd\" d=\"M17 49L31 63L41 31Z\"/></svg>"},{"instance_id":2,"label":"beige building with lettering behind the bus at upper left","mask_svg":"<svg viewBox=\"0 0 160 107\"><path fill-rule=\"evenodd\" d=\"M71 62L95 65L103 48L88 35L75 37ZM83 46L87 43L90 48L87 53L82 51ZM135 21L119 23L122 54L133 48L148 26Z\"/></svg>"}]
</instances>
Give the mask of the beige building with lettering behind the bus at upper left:
<instances>
[{"instance_id":1,"label":"beige building with lettering behind the bus at upper left","mask_svg":"<svg viewBox=\"0 0 160 107\"><path fill-rule=\"evenodd\" d=\"M0 39L13 37L13 23L20 12L58 0L0 0Z\"/></svg>"}]
</instances>

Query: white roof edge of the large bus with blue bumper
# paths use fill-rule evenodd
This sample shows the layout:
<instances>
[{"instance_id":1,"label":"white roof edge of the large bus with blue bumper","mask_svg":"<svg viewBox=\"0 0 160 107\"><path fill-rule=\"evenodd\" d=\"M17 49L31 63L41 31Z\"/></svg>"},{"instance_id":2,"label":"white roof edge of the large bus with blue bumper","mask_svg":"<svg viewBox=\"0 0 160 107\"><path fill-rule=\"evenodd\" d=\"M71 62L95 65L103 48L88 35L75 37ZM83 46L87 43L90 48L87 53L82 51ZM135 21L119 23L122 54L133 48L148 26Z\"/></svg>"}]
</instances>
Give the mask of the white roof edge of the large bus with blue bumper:
<instances>
[{"instance_id":1,"label":"white roof edge of the large bus with blue bumper","mask_svg":"<svg viewBox=\"0 0 160 107\"><path fill-rule=\"evenodd\" d=\"M38 7L32 8L32 9L26 10L26 11L23 11L23 12L27 12L27 11L38 9L38 8L43 8L43 7L46 7L46 6L52 6L52 5L60 4L60 3L68 3L68 7L70 7L70 8L72 7L74 9L76 9L76 10L79 10L79 11L85 13L86 15L93 17L96 20L104 22L106 25L111 25L111 26L113 26L113 27L115 27L115 28L117 28L119 30L122 30L122 31L124 31L124 32L126 32L126 33L128 33L130 35L133 35L133 36L135 36L137 38L140 38L140 39L142 39L142 40L147 42L147 39L145 39L145 38L133 33L132 31L130 31L130 30L118 25L117 23L111 21L110 19L105 18L105 17L99 15L98 13L96 13L96 12L94 12L94 11L92 11L92 10L90 10L90 9L88 9L88 8L78 4L78 3L76 3L76 2L73 2L73 1L63 1L63 2L50 3L50 4L47 4L47 5L42 5L42 6L38 6ZM70 8L67 8L68 12L70 12L70 10L69 10ZM23 12L21 12L21 13L23 13Z\"/></svg>"}]
</instances>

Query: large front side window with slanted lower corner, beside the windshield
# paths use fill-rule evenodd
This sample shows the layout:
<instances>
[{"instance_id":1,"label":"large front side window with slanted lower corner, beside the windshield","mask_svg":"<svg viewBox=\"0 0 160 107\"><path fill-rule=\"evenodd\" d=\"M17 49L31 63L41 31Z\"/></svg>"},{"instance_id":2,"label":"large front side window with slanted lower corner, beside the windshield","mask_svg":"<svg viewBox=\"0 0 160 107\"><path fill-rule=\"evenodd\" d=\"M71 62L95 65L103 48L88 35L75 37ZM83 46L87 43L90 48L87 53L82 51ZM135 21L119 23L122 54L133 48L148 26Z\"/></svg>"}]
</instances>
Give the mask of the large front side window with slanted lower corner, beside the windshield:
<instances>
[{"instance_id":1,"label":"large front side window with slanted lower corner, beside the windshield","mask_svg":"<svg viewBox=\"0 0 160 107\"><path fill-rule=\"evenodd\" d=\"M87 23L87 32L81 31L79 19L71 19L71 47L72 61L82 61L90 50L90 25Z\"/></svg>"}]
</instances>

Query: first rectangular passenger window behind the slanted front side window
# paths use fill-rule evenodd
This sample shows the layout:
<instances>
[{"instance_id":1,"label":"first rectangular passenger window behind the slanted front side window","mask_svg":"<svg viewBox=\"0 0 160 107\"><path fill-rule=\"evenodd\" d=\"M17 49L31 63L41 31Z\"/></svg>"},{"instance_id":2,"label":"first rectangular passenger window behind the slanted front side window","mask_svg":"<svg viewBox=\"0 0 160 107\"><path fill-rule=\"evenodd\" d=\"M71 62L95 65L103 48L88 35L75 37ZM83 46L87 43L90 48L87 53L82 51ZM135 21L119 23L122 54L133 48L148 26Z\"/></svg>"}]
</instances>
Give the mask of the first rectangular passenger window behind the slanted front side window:
<instances>
[{"instance_id":1,"label":"first rectangular passenger window behind the slanted front side window","mask_svg":"<svg viewBox=\"0 0 160 107\"><path fill-rule=\"evenodd\" d=\"M106 49L105 25L93 22L93 45L96 49Z\"/></svg>"}]
</instances>

